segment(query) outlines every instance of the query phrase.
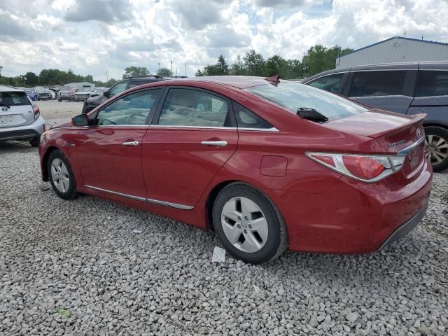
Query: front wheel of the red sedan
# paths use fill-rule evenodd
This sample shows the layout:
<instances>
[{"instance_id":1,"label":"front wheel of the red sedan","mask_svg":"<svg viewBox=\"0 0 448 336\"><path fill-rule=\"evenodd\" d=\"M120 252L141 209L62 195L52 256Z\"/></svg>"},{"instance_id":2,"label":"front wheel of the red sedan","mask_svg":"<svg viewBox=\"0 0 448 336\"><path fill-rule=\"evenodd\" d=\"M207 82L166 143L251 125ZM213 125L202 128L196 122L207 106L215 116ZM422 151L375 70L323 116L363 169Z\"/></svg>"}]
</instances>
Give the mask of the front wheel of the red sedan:
<instances>
[{"instance_id":1,"label":"front wheel of the red sedan","mask_svg":"<svg viewBox=\"0 0 448 336\"><path fill-rule=\"evenodd\" d=\"M64 200L76 197L76 180L69 160L57 150L53 151L48 158L48 177L55 193Z\"/></svg>"}]
</instances>

